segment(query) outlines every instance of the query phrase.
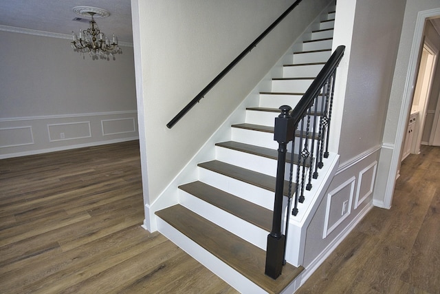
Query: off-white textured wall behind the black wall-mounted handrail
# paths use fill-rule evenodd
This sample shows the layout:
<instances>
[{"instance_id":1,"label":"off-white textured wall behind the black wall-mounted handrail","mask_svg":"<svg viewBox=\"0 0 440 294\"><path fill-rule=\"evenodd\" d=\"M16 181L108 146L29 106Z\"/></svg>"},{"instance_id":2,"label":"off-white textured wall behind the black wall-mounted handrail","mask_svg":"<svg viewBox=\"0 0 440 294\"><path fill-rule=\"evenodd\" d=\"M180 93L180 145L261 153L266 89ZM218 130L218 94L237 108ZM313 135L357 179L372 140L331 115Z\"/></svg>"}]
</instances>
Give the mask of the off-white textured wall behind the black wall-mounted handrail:
<instances>
[{"instance_id":1,"label":"off-white textured wall behind the black wall-mounted handrail","mask_svg":"<svg viewBox=\"0 0 440 294\"><path fill-rule=\"evenodd\" d=\"M137 84L142 83L137 96L144 120L140 137L144 136L143 174L148 174L146 204L159 196L328 2L303 1L168 129L166 123L293 1L132 0L133 31L140 34L134 36L134 43L139 50L135 52Z\"/></svg>"}]
</instances>

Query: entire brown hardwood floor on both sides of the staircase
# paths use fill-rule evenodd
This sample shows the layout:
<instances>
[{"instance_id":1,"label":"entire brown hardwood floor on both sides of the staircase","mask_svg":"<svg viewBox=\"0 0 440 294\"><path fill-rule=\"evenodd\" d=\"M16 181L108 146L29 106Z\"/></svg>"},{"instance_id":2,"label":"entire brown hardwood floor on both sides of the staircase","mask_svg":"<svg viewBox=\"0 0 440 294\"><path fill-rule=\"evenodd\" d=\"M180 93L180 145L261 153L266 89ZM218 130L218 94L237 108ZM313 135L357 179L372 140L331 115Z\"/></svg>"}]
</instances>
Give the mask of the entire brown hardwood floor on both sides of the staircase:
<instances>
[{"instance_id":1,"label":"entire brown hardwood floor on both sides of the staircase","mask_svg":"<svg viewBox=\"0 0 440 294\"><path fill-rule=\"evenodd\" d=\"M137 141L0 160L0 293L236 293L144 219ZM440 148L297 293L440 293Z\"/></svg>"}]
</instances>

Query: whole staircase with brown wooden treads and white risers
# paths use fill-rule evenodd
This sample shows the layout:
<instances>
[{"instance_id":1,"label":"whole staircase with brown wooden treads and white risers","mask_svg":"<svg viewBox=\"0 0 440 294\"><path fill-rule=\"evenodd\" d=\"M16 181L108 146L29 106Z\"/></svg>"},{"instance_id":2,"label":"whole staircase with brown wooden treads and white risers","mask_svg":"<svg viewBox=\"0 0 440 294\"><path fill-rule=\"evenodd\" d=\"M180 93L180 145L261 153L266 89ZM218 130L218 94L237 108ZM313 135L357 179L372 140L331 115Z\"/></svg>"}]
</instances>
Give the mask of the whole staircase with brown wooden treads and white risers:
<instances>
[{"instance_id":1,"label":"whole staircase with brown wooden treads and white risers","mask_svg":"<svg viewBox=\"0 0 440 294\"><path fill-rule=\"evenodd\" d=\"M283 66L283 76L272 79L272 90L260 93L258 105L245 109L244 123L231 125L230 140L212 146L214 159L197 164L197 180L179 185L179 204L156 211L161 233L241 293L293 293L299 286L295 279L303 266L290 264L289 256L278 279L265 275L278 156L274 118L280 105L294 108L331 56L334 9L311 24L311 32L304 34L299 46L302 50L284 57L289 61ZM295 156L295 162L287 162L287 169L297 160ZM327 178L314 180L315 187L322 187L320 180ZM286 195L288 185L285 180ZM313 213L316 199L312 195L300 204L298 218Z\"/></svg>"}]
</instances>

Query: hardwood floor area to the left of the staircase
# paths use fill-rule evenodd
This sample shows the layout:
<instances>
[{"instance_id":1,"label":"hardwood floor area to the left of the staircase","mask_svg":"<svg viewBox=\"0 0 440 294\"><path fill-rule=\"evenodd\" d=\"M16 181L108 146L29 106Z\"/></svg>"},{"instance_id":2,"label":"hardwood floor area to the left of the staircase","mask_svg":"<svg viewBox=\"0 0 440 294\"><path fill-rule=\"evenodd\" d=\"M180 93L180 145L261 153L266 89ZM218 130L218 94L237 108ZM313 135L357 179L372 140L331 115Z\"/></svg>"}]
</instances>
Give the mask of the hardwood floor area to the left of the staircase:
<instances>
[{"instance_id":1,"label":"hardwood floor area to the left of the staircase","mask_svg":"<svg viewBox=\"0 0 440 294\"><path fill-rule=\"evenodd\" d=\"M137 141L0 160L0 293L236 293L143 220Z\"/></svg>"}]
</instances>

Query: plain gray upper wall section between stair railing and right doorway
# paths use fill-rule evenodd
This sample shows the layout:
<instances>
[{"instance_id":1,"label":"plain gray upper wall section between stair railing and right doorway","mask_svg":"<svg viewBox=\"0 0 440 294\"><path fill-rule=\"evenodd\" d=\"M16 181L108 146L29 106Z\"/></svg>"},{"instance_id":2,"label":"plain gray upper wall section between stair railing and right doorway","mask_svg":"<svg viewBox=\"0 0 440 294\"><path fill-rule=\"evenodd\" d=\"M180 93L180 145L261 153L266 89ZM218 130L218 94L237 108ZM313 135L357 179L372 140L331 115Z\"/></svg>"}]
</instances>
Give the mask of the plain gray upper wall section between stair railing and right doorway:
<instances>
[{"instance_id":1,"label":"plain gray upper wall section between stair railing and right doorway","mask_svg":"<svg viewBox=\"0 0 440 294\"><path fill-rule=\"evenodd\" d=\"M404 1L357 1L342 116L341 162L382 143Z\"/></svg>"}]
</instances>

